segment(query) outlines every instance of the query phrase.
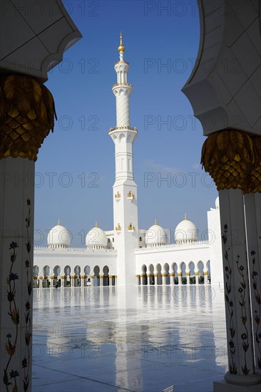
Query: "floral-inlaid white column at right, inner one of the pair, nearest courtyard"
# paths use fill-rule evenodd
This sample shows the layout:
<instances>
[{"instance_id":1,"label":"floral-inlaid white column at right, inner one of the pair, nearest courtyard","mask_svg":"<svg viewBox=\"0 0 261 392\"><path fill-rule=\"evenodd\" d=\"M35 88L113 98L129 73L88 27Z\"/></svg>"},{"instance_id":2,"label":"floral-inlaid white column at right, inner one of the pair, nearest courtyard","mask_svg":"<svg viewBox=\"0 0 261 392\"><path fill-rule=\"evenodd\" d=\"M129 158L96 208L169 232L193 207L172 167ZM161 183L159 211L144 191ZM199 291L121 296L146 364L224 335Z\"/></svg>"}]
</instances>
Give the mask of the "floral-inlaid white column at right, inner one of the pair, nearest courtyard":
<instances>
[{"instance_id":1,"label":"floral-inlaid white column at right, inner one of the pair, nearest courtyard","mask_svg":"<svg viewBox=\"0 0 261 392\"><path fill-rule=\"evenodd\" d=\"M238 384L249 391L260 376L254 364L243 195L241 190L219 195L229 371L227 383L215 382L214 391L241 391Z\"/></svg>"}]
</instances>

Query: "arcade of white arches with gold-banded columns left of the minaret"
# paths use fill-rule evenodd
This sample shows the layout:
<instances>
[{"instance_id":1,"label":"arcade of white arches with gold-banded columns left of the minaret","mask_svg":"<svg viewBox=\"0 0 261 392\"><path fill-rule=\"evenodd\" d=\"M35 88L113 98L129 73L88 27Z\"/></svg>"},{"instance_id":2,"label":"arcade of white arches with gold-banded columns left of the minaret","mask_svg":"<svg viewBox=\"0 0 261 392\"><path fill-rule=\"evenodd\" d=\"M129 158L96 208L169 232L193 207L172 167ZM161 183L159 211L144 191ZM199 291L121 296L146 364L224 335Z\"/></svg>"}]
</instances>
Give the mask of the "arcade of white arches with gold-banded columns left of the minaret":
<instances>
[{"instance_id":1,"label":"arcade of white arches with gold-banded columns left of the minaret","mask_svg":"<svg viewBox=\"0 0 261 392\"><path fill-rule=\"evenodd\" d=\"M87 286L115 286L117 275L109 274L109 267L99 267L93 269L89 265L81 268L79 265L71 267L54 268L45 265L40 268L34 265L34 287L87 287Z\"/></svg>"}]
</instances>

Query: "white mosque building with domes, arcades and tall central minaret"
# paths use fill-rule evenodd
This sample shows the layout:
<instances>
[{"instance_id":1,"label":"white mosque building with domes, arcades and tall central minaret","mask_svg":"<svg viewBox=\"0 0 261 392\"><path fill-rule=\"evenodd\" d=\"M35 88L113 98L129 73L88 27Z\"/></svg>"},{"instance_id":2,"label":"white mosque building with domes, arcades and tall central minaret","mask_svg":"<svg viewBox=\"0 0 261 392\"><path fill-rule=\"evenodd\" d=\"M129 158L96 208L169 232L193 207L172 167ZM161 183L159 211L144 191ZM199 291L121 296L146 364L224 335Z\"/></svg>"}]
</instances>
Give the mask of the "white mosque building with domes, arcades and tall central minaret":
<instances>
[{"instance_id":1,"label":"white mosque building with domes, arcades and tall central minaret","mask_svg":"<svg viewBox=\"0 0 261 392\"><path fill-rule=\"evenodd\" d=\"M117 125L109 130L115 144L116 180L113 185L113 229L95 225L86 235L86 247L73 248L71 232L60 222L48 233L47 247L34 249L34 287L219 284L222 282L222 247L219 200L208 211L208 240L198 240L198 229L185 219L170 230L157 222L138 227L138 195L133 175L133 142L129 98L121 36L120 60L115 64Z\"/></svg>"}]
</instances>

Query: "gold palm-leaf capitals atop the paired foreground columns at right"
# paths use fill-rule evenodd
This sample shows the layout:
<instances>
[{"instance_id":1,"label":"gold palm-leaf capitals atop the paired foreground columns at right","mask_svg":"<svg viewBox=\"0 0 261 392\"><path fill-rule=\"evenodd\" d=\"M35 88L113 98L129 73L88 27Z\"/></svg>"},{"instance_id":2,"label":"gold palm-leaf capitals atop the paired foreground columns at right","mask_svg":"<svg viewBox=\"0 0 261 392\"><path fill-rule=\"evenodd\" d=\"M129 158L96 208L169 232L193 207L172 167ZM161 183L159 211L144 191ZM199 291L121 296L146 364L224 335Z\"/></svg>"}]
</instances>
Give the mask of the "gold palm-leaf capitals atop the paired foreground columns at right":
<instances>
[{"instance_id":1,"label":"gold palm-leaf capitals atop the paired foreground columns at right","mask_svg":"<svg viewBox=\"0 0 261 392\"><path fill-rule=\"evenodd\" d=\"M220 130L204 142L201 163L218 190L261 192L261 137Z\"/></svg>"}]
</instances>

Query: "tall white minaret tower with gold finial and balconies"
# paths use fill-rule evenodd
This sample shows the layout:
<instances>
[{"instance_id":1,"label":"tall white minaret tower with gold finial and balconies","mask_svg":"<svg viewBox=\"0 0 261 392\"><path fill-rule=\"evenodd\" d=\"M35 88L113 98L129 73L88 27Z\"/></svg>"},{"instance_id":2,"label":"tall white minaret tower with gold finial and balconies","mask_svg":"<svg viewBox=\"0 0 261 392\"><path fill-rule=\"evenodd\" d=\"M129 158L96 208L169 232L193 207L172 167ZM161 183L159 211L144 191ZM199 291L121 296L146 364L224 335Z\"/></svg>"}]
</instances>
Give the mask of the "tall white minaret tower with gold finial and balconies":
<instances>
[{"instance_id":1,"label":"tall white minaret tower with gold finial and balconies","mask_svg":"<svg viewBox=\"0 0 261 392\"><path fill-rule=\"evenodd\" d=\"M120 35L120 60L115 64L117 83L113 85L116 96L116 128L109 130L115 144L116 180L113 185L113 220L117 247L117 284L135 284L134 249L138 247L137 185L133 177L133 142L137 128L130 126L129 98L132 86L127 82L129 63L123 59L125 47Z\"/></svg>"}]
</instances>

